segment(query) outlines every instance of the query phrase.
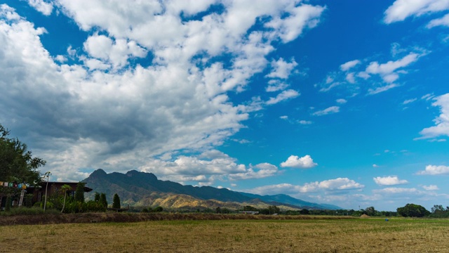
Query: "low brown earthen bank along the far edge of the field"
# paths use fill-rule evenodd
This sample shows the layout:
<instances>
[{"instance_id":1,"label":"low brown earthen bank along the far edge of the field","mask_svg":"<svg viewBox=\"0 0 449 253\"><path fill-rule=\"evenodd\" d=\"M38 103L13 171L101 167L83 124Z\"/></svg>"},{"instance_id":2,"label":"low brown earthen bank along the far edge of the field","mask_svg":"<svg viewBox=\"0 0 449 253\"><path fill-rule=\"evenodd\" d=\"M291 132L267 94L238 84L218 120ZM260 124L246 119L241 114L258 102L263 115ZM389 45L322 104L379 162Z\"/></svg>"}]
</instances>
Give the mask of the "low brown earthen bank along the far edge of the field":
<instances>
[{"instance_id":1,"label":"low brown earthen bank along the far edge of the field","mask_svg":"<svg viewBox=\"0 0 449 253\"><path fill-rule=\"evenodd\" d=\"M0 226L58 224L58 223L100 223L138 221L183 221L183 220L234 220L234 219L354 219L350 216L286 216L248 214L138 214L138 213L86 213L86 214L39 214L0 216Z\"/></svg>"}]
</instances>

